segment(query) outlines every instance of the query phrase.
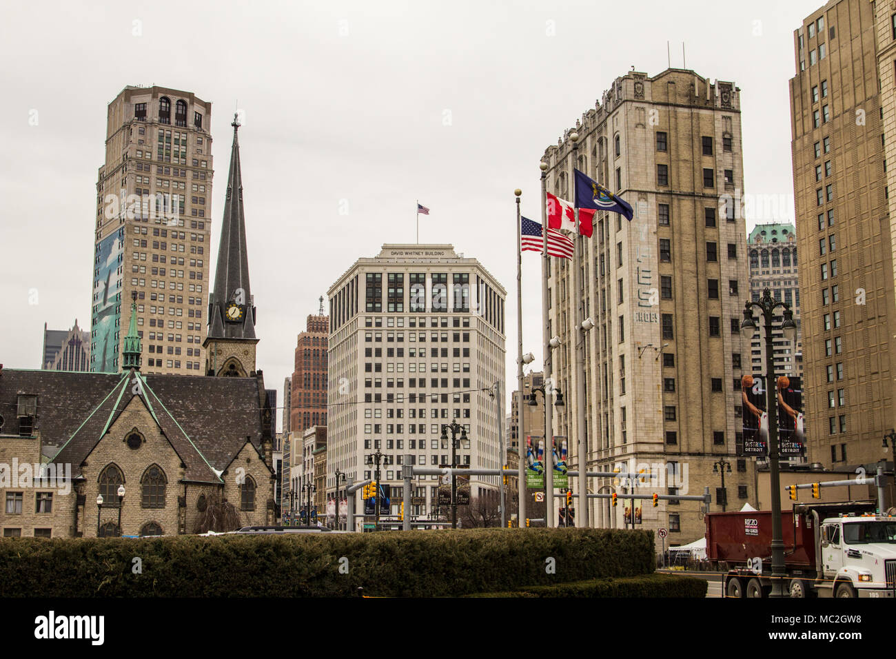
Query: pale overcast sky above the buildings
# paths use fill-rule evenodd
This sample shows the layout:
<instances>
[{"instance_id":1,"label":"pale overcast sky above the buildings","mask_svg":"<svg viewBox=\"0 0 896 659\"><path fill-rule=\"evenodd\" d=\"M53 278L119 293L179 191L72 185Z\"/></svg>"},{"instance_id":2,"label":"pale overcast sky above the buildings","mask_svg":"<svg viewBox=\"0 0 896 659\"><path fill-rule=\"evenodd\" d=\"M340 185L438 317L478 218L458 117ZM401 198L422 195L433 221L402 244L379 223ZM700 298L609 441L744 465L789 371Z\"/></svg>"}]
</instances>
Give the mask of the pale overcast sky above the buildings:
<instances>
[{"instance_id":1,"label":"pale overcast sky above the buildings","mask_svg":"<svg viewBox=\"0 0 896 659\"><path fill-rule=\"evenodd\" d=\"M125 85L211 101L212 244L235 108L258 368L279 390L318 297L384 242L452 243L507 289L515 386L513 189L538 220L538 160L618 75L671 64L741 90L745 191L791 219L793 30L822 0L58 2L0 20L0 363L36 369L42 330L90 329L106 106ZM32 125L35 124L36 125ZM767 197L778 198L778 197ZM340 208L348 214L340 214ZM748 217L748 229L756 218ZM214 258L210 258L212 268ZM538 255L523 255L525 351L541 359ZM213 276L213 273L212 273ZM213 281L213 280L212 280ZM279 415L278 415L279 416Z\"/></svg>"}]
</instances>

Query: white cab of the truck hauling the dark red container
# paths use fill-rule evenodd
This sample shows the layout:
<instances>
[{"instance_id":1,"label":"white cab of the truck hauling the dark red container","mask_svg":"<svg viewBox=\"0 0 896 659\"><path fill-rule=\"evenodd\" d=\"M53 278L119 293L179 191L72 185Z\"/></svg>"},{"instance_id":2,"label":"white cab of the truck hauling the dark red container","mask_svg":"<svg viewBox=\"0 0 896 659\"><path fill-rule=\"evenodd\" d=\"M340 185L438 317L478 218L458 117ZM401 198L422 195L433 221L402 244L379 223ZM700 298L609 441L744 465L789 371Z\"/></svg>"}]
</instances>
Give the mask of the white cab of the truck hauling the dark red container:
<instances>
[{"instance_id":1,"label":"white cab of the truck hauling the dark red container","mask_svg":"<svg viewBox=\"0 0 896 659\"><path fill-rule=\"evenodd\" d=\"M820 596L896 596L896 517L829 517L818 542Z\"/></svg>"}]
</instances>

